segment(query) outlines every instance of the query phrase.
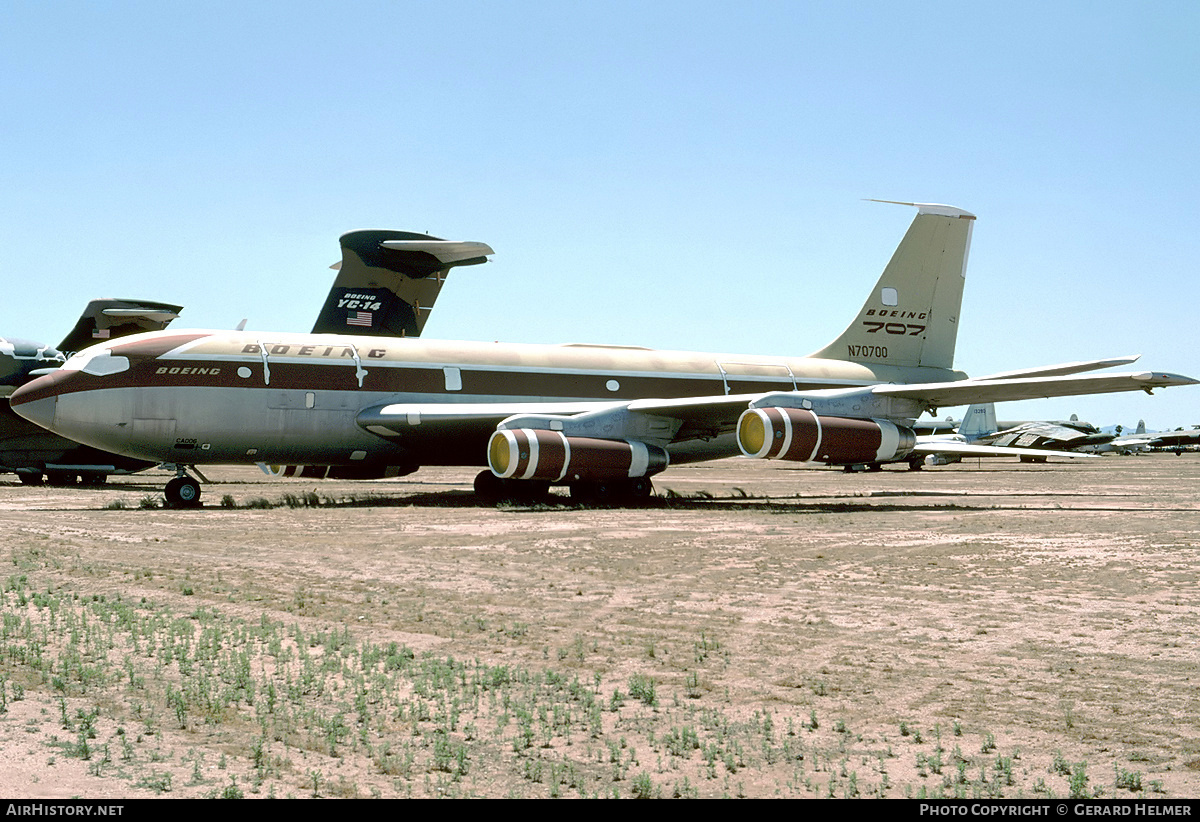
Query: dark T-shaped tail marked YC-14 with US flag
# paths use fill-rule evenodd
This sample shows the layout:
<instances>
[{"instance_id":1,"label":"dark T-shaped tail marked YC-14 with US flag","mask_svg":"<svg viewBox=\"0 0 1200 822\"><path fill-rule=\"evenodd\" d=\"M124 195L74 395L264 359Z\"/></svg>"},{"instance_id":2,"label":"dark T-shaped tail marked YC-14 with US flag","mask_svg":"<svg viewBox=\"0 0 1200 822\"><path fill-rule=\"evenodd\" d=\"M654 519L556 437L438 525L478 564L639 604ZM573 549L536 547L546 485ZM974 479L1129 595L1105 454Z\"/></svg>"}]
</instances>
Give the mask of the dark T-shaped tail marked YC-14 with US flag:
<instances>
[{"instance_id":1,"label":"dark T-shaped tail marked YC-14 with US flag","mask_svg":"<svg viewBox=\"0 0 1200 822\"><path fill-rule=\"evenodd\" d=\"M412 232L343 234L342 262L313 334L415 337L455 265L486 263L482 242L456 242Z\"/></svg>"}]
</instances>

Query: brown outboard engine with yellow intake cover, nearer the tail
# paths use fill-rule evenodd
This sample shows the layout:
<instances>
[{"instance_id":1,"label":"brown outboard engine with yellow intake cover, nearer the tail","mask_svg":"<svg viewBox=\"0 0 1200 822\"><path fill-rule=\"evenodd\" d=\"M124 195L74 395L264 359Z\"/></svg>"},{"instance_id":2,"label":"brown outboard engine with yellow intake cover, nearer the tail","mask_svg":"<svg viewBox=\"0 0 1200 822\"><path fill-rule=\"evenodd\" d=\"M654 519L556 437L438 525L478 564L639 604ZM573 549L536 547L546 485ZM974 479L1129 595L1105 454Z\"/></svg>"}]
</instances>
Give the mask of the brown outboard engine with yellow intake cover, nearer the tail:
<instances>
[{"instance_id":1,"label":"brown outboard engine with yellow intake cover, nearer the tail","mask_svg":"<svg viewBox=\"0 0 1200 822\"><path fill-rule=\"evenodd\" d=\"M738 419L738 448L748 457L853 466L905 458L912 428L889 420L818 416L803 408L751 408Z\"/></svg>"}]
</instances>

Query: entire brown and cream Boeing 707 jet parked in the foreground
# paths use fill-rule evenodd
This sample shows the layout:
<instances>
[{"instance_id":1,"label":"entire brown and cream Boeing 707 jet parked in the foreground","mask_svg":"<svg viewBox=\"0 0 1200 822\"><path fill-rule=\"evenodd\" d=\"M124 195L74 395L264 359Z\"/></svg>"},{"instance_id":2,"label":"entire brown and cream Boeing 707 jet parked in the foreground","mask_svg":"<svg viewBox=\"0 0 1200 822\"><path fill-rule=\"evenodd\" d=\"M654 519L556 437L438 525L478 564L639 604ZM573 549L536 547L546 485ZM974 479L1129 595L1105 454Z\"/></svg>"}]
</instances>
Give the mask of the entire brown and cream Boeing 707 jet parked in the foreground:
<instances>
[{"instance_id":1,"label":"entire brown and cream Boeing 707 jet parked in the foreground","mask_svg":"<svg viewBox=\"0 0 1200 822\"><path fill-rule=\"evenodd\" d=\"M167 486L174 505L199 500L184 467L258 462L360 476L478 464L490 468L475 482L485 494L557 484L584 498L632 498L671 463L737 454L904 460L920 448L913 420L941 407L1198 382L1081 374L1111 360L974 379L955 371L974 215L905 205L917 217L858 316L805 358L162 331L90 348L12 403L72 439L180 466Z\"/></svg>"}]
</instances>

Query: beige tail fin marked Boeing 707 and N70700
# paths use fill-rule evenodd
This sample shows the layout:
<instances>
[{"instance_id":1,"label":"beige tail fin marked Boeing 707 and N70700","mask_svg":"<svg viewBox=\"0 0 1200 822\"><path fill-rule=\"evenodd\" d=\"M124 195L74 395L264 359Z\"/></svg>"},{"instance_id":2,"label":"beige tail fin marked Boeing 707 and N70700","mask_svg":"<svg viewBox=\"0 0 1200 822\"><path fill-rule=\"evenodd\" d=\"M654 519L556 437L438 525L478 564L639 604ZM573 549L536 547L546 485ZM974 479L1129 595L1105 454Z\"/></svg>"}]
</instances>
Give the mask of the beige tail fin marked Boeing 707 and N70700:
<instances>
[{"instance_id":1,"label":"beige tail fin marked Boeing 707 and N70700","mask_svg":"<svg viewBox=\"0 0 1200 822\"><path fill-rule=\"evenodd\" d=\"M917 206L917 217L908 233L854 322L812 356L910 367L954 367L962 283L976 217L949 205L899 205Z\"/></svg>"}]
</instances>

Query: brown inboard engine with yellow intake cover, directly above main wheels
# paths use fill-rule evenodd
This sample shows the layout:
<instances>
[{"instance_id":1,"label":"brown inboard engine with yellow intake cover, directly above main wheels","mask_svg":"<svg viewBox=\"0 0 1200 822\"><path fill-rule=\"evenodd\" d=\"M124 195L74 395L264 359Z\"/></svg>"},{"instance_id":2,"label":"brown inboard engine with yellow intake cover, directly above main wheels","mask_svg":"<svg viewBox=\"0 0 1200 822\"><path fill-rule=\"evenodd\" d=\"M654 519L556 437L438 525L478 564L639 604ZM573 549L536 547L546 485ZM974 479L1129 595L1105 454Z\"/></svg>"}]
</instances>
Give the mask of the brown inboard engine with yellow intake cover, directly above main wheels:
<instances>
[{"instance_id":1,"label":"brown inboard engine with yellow intake cover, directly above main wheels","mask_svg":"<svg viewBox=\"0 0 1200 822\"><path fill-rule=\"evenodd\" d=\"M487 466L500 479L594 482L649 476L668 462L658 445L540 428L500 428L487 443Z\"/></svg>"}]
</instances>

